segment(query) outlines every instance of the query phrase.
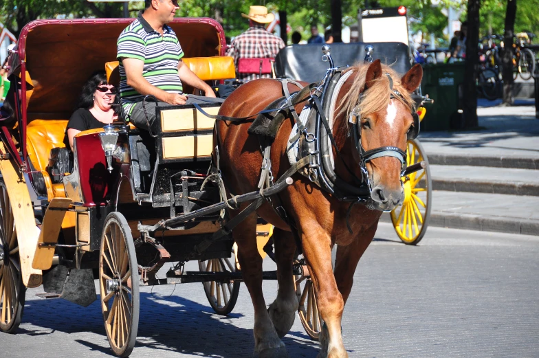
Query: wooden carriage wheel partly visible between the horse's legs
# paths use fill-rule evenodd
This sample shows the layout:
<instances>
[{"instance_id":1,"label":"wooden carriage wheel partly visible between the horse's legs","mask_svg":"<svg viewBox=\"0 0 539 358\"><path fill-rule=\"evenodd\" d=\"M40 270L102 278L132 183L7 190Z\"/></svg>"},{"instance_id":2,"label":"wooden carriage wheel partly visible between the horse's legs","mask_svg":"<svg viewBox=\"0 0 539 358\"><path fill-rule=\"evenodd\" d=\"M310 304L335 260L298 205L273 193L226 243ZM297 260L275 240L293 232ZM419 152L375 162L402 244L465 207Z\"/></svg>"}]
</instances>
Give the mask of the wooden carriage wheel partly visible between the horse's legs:
<instances>
[{"instance_id":1,"label":"wooden carriage wheel partly visible between the horse's legs","mask_svg":"<svg viewBox=\"0 0 539 358\"><path fill-rule=\"evenodd\" d=\"M318 314L318 300L310 276L296 276L296 295L299 298L298 315L305 333L318 342L324 321Z\"/></svg>"}]
</instances>

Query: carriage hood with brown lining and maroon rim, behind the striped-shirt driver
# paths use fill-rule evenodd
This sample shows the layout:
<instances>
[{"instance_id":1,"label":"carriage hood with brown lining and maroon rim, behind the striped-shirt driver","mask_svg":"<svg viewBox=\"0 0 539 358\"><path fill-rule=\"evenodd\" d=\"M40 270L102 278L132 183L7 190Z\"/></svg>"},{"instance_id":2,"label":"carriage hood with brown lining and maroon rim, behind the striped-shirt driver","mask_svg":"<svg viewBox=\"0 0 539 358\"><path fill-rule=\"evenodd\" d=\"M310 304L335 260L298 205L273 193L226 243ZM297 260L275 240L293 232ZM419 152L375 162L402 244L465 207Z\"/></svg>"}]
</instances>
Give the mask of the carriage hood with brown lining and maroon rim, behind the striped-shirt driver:
<instances>
[{"instance_id":1,"label":"carriage hood with brown lining and maroon rim, behind the striped-shirt driver","mask_svg":"<svg viewBox=\"0 0 539 358\"><path fill-rule=\"evenodd\" d=\"M69 119L85 81L116 60L120 32L134 19L36 21L25 41L29 120ZM175 19L169 24L185 57L220 56L221 27L212 19Z\"/></svg>"}]
</instances>

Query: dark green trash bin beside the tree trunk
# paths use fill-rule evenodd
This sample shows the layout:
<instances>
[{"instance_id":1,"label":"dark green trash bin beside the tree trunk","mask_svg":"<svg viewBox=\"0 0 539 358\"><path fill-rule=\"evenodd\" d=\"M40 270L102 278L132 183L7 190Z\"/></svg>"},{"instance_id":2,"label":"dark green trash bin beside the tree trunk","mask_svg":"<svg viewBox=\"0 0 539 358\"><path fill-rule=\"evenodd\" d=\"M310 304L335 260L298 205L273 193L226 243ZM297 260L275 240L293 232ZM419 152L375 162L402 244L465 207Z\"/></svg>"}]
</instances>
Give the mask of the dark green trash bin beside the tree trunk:
<instances>
[{"instance_id":1,"label":"dark green trash bin beside the tree trunk","mask_svg":"<svg viewBox=\"0 0 539 358\"><path fill-rule=\"evenodd\" d=\"M461 128L464 63L425 65L421 92L434 100L426 106L421 131L448 131Z\"/></svg>"}]
</instances>

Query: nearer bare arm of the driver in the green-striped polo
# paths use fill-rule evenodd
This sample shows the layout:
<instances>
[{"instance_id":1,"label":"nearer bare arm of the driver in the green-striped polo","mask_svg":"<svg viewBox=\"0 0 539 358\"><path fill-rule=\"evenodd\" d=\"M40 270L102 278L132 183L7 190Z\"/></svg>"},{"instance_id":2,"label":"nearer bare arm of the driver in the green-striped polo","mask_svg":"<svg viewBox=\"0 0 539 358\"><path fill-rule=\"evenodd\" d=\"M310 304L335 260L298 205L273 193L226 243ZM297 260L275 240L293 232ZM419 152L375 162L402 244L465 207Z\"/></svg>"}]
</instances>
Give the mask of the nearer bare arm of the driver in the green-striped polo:
<instances>
[{"instance_id":1,"label":"nearer bare arm of the driver in the green-striped polo","mask_svg":"<svg viewBox=\"0 0 539 358\"><path fill-rule=\"evenodd\" d=\"M144 76L144 61L137 58L122 58L125 74L127 77L127 85L133 87L138 93L143 96L153 95L157 100L168 104L185 104L187 97L179 93L168 93L151 85ZM209 87L209 86L208 86Z\"/></svg>"}]
</instances>

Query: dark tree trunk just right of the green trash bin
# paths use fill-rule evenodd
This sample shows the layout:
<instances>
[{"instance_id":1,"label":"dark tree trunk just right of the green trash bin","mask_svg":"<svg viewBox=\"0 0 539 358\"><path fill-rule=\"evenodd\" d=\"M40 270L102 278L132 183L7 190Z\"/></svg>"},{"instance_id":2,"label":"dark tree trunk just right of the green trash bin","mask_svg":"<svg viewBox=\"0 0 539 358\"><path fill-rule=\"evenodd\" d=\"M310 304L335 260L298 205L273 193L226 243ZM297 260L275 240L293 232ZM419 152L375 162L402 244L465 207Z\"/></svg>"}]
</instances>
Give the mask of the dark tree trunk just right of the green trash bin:
<instances>
[{"instance_id":1,"label":"dark tree trunk just right of the green trash bin","mask_svg":"<svg viewBox=\"0 0 539 358\"><path fill-rule=\"evenodd\" d=\"M477 89L476 80L479 68L479 8L481 0L468 1L467 34L466 34L466 60L464 62L464 127L478 126L477 120Z\"/></svg>"}]
</instances>

